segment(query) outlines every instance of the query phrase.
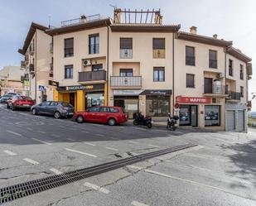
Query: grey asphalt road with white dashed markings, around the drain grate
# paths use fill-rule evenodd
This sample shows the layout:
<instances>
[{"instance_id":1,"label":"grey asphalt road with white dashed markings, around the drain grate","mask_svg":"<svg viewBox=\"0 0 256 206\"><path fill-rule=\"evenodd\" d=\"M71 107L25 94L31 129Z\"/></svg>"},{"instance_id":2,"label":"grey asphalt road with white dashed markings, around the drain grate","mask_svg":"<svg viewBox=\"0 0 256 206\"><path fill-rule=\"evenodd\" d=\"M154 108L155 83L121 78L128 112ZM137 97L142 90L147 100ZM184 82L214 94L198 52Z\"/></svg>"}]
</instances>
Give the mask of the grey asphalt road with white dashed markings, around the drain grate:
<instances>
[{"instance_id":1,"label":"grey asphalt road with white dashed markings, around the drain grate","mask_svg":"<svg viewBox=\"0 0 256 206\"><path fill-rule=\"evenodd\" d=\"M1 187L189 142L199 146L5 205L256 205L256 132L78 124L0 105Z\"/></svg>"}]
</instances>

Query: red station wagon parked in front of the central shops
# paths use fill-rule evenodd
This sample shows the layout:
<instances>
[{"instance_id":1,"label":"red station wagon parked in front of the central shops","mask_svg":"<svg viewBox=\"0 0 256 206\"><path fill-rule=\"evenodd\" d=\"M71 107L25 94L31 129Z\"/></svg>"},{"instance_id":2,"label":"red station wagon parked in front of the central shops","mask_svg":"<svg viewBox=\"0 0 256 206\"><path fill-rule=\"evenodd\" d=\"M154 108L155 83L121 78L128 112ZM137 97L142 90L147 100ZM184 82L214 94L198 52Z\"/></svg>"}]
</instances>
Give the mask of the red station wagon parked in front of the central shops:
<instances>
[{"instance_id":1,"label":"red station wagon parked in front of the central shops","mask_svg":"<svg viewBox=\"0 0 256 206\"><path fill-rule=\"evenodd\" d=\"M127 122L127 116L122 108L118 107L94 107L85 112L76 112L74 117L76 122L99 122L108 123L114 126L119 123Z\"/></svg>"}]
</instances>

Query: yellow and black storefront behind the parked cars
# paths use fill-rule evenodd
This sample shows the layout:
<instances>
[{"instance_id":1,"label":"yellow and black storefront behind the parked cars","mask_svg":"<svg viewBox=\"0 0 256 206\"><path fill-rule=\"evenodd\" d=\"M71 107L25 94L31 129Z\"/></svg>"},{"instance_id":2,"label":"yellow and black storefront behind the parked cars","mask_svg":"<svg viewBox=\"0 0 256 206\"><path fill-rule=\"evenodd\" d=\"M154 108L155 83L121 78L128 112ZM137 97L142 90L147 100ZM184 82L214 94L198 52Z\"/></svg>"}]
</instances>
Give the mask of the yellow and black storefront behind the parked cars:
<instances>
[{"instance_id":1,"label":"yellow and black storefront behind the parked cars","mask_svg":"<svg viewBox=\"0 0 256 206\"><path fill-rule=\"evenodd\" d=\"M57 87L54 100L71 103L76 111L84 111L86 108L106 105L104 88L104 84Z\"/></svg>"}]
</instances>

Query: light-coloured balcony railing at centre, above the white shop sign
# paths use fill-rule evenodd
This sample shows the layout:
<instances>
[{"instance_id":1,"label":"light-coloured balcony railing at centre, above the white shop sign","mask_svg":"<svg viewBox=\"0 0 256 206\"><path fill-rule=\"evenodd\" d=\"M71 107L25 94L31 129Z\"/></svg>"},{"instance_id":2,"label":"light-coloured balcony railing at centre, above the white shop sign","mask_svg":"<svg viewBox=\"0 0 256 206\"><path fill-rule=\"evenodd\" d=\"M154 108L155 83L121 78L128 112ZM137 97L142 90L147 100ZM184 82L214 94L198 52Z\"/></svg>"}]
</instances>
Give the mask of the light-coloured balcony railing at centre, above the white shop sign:
<instances>
[{"instance_id":1,"label":"light-coloured balcony railing at centre, above the white shop sign","mask_svg":"<svg viewBox=\"0 0 256 206\"><path fill-rule=\"evenodd\" d=\"M120 77L112 76L110 78L111 87L141 87L142 86L142 77Z\"/></svg>"}]
</instances>

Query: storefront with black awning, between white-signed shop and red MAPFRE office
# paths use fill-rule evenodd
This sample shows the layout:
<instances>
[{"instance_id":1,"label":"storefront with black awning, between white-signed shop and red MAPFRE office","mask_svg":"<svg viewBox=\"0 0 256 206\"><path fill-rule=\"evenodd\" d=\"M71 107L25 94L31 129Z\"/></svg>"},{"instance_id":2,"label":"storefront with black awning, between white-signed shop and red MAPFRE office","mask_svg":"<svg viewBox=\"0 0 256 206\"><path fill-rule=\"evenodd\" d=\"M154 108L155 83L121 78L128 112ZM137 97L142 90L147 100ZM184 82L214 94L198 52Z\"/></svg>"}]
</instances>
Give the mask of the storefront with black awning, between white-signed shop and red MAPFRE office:
<instances>
[{"instance_id":1,"label":"storefront with black awning, between white-signed shop and red MAPFRE office","mask_svg":"<svg viewBox=\"0 0 256 206\"><path fill-rule=\"evenodd\" d=\"M146 89L142 93L140 93L140 96L146 96L147 116L167 117L168 113L170 113L171 89Z\"/></svg>"}]
</instances>

